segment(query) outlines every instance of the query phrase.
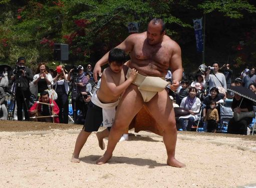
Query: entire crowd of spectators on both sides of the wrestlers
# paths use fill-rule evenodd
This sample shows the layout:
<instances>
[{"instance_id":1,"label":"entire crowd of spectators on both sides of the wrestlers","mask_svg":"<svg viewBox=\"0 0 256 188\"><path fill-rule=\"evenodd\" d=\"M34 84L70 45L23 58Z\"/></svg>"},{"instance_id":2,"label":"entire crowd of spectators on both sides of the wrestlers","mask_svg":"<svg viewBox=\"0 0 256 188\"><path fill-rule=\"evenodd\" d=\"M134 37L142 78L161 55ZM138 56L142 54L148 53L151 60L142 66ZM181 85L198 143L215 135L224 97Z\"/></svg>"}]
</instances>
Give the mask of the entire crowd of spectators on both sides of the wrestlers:
<instances>
[{"instance_id":1,"label":"entire crowd of spectators on both sides of the wrestlers","mask_svg":"<svg viewBox=\"0 0 256 188\"><path fill-rule=\"evenodd\" d=\"M8 65L0 67L0 79L0 120L67 124L72 115L75 123L84 124L88 104L97 89L90 63L67 71L63 65L53 70L47 67L47 63L41 62L33 74L26 66L26 59L20 57L13 70ZM165 80L171 84L170 70ZM221 127L220 108L226 100L232 100L233 112L253 111L252 106L255 104L247 99L241 100L241 96L227 91L230 86L248 88L256 95L255 67L245 67L237 77L230 64L220 66L218 62L213 62L211 66L200 65L193 77L183 71L177 91L173 92L167 86L175 106L187 111L187 114L176 118L177 130L190 131L200 121L205 131L215 133ZM7 95L15 101L16 109L6 100ZM69 111L70 106L72 112ZM246 135L251 121L249 117L241 120L231 118L227 133Z\"/></svg>"}]
</instances>

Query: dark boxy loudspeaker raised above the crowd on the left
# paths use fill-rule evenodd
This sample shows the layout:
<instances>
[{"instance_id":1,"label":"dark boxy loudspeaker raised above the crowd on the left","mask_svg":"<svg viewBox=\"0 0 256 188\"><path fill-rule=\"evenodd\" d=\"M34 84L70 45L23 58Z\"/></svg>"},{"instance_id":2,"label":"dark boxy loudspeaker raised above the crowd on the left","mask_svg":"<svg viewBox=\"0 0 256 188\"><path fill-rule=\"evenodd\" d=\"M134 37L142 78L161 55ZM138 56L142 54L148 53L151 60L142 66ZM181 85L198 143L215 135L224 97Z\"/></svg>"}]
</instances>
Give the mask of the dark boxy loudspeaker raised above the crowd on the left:
<instances>
[{"instance_id":1,"label":"dark boxy loudspeaker raised above the crowd on the left","mask_svg":"<svg viewBox=\"0 0 256 188\"><path fill-rule=\"evenodd\" d=\"M54 60L67 61L69 60L69 45L68 44L54 44Z\"/></svg>"}]
</instances>

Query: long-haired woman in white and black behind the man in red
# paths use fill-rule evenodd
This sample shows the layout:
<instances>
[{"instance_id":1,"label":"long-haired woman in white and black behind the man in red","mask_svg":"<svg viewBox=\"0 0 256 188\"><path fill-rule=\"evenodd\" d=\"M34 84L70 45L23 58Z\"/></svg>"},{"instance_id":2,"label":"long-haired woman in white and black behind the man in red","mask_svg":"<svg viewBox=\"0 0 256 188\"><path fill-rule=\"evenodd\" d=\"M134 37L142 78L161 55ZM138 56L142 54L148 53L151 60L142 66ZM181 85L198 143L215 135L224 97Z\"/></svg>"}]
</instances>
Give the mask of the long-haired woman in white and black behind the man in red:
<instances>
[{"instance_id":1,"label":"long-haired woman in white and black behind the man in red","mask_svg":"<svg viewBox=\"0 0 256 188\"><path fill-rule=\"evenodd\" d=\"M38 64L38 69L34 75L33 82L35 89L31 89L32 94L39 98L39 94L46 89L51 89L53 85L53 77L46 71L46 63Z\"/></svg>"}]
</instances>

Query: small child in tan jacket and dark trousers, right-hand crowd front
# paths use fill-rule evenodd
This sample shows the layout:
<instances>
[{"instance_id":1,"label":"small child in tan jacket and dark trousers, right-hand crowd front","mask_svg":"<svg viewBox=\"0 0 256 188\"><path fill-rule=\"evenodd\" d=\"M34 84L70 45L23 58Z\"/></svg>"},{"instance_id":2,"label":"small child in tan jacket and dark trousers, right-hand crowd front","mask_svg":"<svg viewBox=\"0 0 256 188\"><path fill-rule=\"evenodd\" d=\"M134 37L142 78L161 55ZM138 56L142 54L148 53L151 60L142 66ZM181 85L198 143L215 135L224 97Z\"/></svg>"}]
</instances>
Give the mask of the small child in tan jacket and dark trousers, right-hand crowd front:
<instances>
[{"instance_id":1,"label":"small child in tan jacket and dark trousers, right-hand crowd front","mask_svg":"<svg viewBox=\"0 0 256 188\"><path fill-rule=\"evenodd\" d=\"M218 110L216 109L216 102L210 102L210 109L207 110L205 121L207 122L207 132L215 133L219 121Z\"/></svg>"}]
</instances>

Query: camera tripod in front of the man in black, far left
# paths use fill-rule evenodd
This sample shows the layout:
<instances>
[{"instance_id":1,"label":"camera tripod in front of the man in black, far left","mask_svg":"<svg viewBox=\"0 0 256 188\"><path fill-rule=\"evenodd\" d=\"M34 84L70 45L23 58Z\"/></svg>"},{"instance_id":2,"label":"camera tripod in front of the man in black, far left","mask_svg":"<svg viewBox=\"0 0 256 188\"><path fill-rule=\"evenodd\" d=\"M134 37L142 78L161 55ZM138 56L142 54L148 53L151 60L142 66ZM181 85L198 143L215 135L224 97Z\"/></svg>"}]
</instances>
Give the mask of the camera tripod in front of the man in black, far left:
<instances>
[{"instance_id":1,"label":"camera tripod in front of the man in black, far left","mask_svg":"<svg viewBox=\"0 0 256 188\"><path fill-rule=\"evenodd\" d=\"M16 79L13 85L13 92L11 95L10 103L8 105L8 117L7 117L8 120L14 120L14 112L15 112L15 106L16 106L16 93L17 93L18 87L20 88L22 87L22 84L20 83L20 77L21 75L16 74ZM28 111L28 104L25 100L24 92L22 89L21 89L21 92L22 92L26 110Z\"/></svg>"}]
</instances>

